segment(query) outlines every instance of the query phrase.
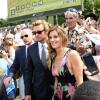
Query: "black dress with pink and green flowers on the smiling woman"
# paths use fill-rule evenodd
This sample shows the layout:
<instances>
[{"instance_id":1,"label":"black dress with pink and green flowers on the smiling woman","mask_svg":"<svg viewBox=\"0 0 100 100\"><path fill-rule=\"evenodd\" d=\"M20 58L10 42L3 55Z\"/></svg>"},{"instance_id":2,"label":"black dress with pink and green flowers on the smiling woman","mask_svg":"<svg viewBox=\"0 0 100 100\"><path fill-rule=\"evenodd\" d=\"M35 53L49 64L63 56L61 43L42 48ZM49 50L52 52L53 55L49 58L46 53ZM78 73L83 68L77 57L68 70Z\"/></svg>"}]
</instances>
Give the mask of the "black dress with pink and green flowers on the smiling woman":
<instances>
[{"instance_id":1,"label":"black dress with pink and green flowers on the smiling woman","mask_svg":"<svg viewBox=\"0 0 100 100\"><path fill-rule=\"evenodd\" d=\"M70 50L66 52L61 61L61 66L58 70L58 75L55 74L54 63L52 62L52 74L57 78L57 87L54 100L71 100L75 92L75 77L71 75L67 67L67 58Z\"/></svg>"}]
</instances>

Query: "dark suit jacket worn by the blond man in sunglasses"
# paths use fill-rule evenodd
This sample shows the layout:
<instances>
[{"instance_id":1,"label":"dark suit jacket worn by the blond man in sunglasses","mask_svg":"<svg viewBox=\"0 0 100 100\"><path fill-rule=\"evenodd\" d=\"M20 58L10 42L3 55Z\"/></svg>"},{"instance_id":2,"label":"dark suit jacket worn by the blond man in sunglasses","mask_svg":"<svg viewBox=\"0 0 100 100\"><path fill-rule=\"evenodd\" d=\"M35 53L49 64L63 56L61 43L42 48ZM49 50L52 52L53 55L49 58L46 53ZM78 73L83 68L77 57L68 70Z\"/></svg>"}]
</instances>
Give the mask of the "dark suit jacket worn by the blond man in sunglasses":
<instances>
[{"instance_id":1,"label":"dark suit jacket worn by the blond man in sunglasses","mask_svg":"<svg viewBox=\"0 0 100 100\"><path fill-rule=\"evenodd\" d=\"M53 83L53 79L49 69L45 68L40 60L38 43L28 48L25 71L25 94L30 94L32 82L35 96L45 98L50 92L50 83Z\"/></svg>"}]
</instances>

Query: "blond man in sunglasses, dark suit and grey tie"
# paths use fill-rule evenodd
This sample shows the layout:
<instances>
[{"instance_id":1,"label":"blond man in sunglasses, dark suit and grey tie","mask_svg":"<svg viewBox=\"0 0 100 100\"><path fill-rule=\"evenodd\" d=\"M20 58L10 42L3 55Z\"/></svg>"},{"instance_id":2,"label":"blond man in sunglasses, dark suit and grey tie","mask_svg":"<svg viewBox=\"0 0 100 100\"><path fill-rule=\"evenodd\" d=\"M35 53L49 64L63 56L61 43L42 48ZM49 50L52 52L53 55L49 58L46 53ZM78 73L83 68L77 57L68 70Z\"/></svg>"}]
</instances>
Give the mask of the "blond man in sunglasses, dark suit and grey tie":
<instances>
[{"instance_id":1,"label":"blond man in sunglasses, dark suit and grey tie","mask_svg":"<svg viewBox=\"0 0 100 100\"><path fill-rule=\"evenodd\" d=\"M42 45L45 46L46 58L48 56L46 41L48 40L49 24L44 20L36 20L32 25L33 34L35 34L38 42L31 45L27 52L25 100L32 100L30 96L31 88L34 90L36 100L51 100L53 91L50 88L50 83L53 79L48 66L42 63ZM33 87L31 87L31 82Z\"/></svg>"}]
</instances>

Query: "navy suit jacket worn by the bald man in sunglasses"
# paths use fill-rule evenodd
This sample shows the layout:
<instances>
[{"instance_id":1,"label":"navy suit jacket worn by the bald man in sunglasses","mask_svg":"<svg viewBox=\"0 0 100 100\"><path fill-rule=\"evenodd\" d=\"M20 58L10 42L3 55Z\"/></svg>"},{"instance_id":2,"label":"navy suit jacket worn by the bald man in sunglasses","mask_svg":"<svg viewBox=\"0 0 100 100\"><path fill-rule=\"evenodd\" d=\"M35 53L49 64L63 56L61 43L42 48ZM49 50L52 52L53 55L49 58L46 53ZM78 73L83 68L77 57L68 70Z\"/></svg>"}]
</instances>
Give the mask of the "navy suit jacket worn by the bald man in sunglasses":
<instances>
[{"instance_id":1,"label":"navy suit jacket worn by the bald man in sunglasses","mask_svg":"<svg viewBox=\"0 0 100 100\"><path fill-rule=\"evenodd\" d=\"M14 76L16 71L20 69L20 72L25 76L25 66L26 66L26 46L21 46L15 52L15 59L10 67L10 76Z\"/></svg>"}]
</instances>

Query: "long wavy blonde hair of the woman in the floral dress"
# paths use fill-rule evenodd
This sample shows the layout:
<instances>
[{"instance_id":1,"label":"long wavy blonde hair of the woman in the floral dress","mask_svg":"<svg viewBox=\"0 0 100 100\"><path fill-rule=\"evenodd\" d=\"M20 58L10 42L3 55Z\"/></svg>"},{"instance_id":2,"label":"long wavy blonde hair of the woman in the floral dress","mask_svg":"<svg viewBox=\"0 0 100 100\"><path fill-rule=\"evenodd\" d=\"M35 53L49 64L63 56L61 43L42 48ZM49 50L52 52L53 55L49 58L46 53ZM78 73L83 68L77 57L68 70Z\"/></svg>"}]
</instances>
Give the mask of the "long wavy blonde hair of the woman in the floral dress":
<instances>
[{"instance_id":1,"label":"long wavy blonde hair of the woman in the floral dress","mask_svg":"<svg viewBox=\"0 0 100 100\"><path fill-rule=\"evenodd\" d=\"M67 47L67 41L68 41L67 34L61 26L55 25L50 28L48 32L48 52L49 52L48 66L49 68L51 67L51 60L56 56L56 51L55 49L52 48L50 41L49 41L49 35L52 31L56 31L58 33L59 37L62 40L63 47Z\"/></svg>"}]
</instances>

